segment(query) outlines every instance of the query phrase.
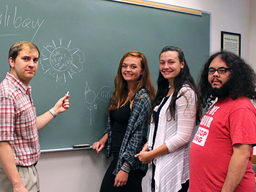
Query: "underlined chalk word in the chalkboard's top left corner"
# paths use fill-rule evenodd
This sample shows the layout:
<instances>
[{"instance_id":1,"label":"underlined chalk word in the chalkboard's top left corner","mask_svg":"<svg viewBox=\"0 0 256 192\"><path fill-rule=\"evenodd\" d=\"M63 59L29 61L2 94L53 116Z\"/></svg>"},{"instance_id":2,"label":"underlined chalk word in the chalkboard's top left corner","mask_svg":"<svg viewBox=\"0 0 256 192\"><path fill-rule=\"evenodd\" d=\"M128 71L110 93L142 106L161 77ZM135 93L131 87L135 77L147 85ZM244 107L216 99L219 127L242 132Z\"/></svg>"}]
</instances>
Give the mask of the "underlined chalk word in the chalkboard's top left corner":
<instances>
[{"instance_id":1,"label":"underlined chalk word in the chalkboard's top left corner","mask_svg":"<svg viewBox=\"0 0 256 192\"><path fill-rule=\"evenodd\" d=\"M27 12L24 13L27 15ZM34 37L36 36L39 28L42 26L43 22L45 20L43 19L42 21L39 21L39 18L36 20L32 18L22 18L20 16L20 13L18 13L18 8L15 6L15 9L9 11L8 5L5 5L5 12L0 12L0 27L5 27L5 28L25 28L27 30L34 30L34 35L31 39L33 41ZM16 32L15 29L10 28L10 32ZM5 30L1 30L5 31ZM10 34L10 33L5 33L5 34L0 34L0 36L22 36L22 34Z\"/></svg>"}]
</instances>

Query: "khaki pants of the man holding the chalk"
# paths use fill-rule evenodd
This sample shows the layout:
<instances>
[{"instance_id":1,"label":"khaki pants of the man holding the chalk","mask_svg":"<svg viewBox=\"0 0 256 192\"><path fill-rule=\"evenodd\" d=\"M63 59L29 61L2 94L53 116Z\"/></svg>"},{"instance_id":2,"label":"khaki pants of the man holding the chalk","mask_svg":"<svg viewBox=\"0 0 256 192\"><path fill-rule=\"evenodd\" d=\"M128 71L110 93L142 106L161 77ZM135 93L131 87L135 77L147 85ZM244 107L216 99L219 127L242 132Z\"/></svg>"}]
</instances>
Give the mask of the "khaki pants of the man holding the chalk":
<instances>
[{"instance_id":1,"label":"khaki pants of the man holding the chalk","mask_svg":"<svg viewBox=\"0 0 256 192\"><path fill-rule=\"evenodd\" d=\"M26 187L28 192L38 192L39 189L39 177L37 169L34 165L29 167L16 166L21 176L21 181ZM0 167L0 192L13 192L12 184L5 171Z\"/></svg>"}]
</instances>

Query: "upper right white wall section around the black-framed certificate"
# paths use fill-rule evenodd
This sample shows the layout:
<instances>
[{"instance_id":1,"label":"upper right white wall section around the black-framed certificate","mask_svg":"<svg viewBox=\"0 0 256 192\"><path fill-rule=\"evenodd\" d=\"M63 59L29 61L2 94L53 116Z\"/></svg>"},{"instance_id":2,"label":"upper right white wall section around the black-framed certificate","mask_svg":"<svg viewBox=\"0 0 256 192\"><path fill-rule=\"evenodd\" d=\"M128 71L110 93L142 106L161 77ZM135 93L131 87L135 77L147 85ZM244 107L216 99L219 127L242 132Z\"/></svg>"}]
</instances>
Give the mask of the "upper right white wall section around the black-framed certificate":
<instances>
[{"instance_id":1,"label":"upper right white wall section around the black-framed certificate","mask_svg":"<svg viewBox=\"0 0 256 192\"><path fill-rule=\"evenodd\" d=\"M241 57L249 59L250 0L154 0L212 13L211 52L220 50L220 32L241 34Z\"/></svg>"}]
</instances>

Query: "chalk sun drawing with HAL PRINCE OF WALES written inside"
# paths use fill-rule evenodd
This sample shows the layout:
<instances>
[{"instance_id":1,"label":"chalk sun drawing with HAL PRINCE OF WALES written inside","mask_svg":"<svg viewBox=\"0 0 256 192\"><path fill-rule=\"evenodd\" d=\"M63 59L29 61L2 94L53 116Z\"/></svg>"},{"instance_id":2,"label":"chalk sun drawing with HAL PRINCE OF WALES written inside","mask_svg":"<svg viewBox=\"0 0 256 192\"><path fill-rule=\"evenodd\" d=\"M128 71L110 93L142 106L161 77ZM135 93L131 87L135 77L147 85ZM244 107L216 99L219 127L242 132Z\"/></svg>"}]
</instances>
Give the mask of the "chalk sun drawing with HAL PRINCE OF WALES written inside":
<instances>
[{"instance_id":1,"label":"chalk sun drawing with HAL PRINCE OF WALES written inside","mask_svg":"<svg viewBox=\"0 0 256 192\"><path fill-rule=\"evenodd\" d=\"M67 46L62 45L62 38L59 39L59 46L43 46L41 50L40 64L43 68L43 75L51 75L56 82L73 79L73 76L83 70L85 55L79 48L70 48L71 40Z\"/></svg>"}]
</instances>

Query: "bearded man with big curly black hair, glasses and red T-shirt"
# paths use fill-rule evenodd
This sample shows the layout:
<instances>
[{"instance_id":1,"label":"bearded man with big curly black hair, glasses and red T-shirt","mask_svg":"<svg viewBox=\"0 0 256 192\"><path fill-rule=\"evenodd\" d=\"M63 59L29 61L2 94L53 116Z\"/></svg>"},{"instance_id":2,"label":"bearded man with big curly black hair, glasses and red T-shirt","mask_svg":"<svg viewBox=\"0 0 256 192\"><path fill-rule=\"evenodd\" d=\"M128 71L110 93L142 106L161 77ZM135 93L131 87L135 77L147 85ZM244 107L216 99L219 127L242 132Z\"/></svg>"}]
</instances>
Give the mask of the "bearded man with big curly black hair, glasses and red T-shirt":
<instances>
[{"instance_id":1,"label":"bearded man with big curly black hair, glasses and red T-shirt","mask_svg":"<svg viewBox=\"0 0 256 192\"><path fill-rule=\"evenodd\" d=\"M233 53L215 53L203 67L199 89L208 112L191 145L189 191L254 192L254 70Z\"/></svg>"}]
</instances>

